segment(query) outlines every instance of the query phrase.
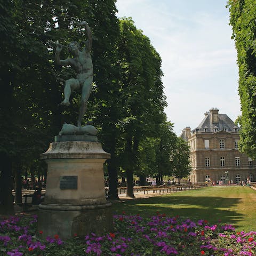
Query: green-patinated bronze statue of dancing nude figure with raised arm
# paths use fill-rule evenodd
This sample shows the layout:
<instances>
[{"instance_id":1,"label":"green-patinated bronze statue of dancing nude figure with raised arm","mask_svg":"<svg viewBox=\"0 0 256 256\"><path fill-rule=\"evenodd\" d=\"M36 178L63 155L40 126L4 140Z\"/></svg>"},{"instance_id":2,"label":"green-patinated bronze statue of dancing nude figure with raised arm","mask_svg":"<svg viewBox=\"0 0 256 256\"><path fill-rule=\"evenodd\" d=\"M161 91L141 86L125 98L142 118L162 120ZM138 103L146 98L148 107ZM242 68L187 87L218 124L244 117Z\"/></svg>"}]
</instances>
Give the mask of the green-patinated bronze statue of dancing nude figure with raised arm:
<instances>
[{"instance_id":1,"label":"green-patinated bronze statue of dancing nude figure with raised arm","mask_svg":"<svg viewBox=\"0 0 256 256\"><path fill-rule=\"evenodd\" d=\"M85 47L81 51L79 49L80 45L77 42L71 42L68 48L74 58L60 60L62 45L57 42L55 59L58 65L70 66L77 72L76 78L70 78L65 82L65 98L61 102L61 105L69 106L69 98L71 92L78 89L82 90L81 107L79 110L79 116L77 121L77 126L81 127L81 122L87 108L87 101L92 91L93 65L90 53L92 48L92 32L86 21L81 21L77 25L84 26L86 29L87 41L85 42Z\"/></svg>"}]
</instances>

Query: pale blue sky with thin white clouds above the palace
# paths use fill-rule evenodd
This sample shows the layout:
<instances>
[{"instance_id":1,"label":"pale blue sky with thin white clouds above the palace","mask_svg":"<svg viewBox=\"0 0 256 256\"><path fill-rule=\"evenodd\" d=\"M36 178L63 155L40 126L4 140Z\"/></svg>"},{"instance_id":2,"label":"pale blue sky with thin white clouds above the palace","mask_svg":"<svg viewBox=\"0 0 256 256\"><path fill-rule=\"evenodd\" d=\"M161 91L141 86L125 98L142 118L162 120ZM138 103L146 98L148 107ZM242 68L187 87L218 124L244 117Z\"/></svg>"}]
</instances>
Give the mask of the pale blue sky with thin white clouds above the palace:
<instances>
[{"instance_id":1,"label":"pale blue sky with thin white clouds above the palace","mask_svg":"<svg viewBox=\"0 0 256 256\"><path fill-rule=\"evenodd\" d=\"M117 17L132 17L162 58L167 121L177 135L218 108L240 112L238 67L226 0L117 0Z\"/></svg>"}]
</instances>

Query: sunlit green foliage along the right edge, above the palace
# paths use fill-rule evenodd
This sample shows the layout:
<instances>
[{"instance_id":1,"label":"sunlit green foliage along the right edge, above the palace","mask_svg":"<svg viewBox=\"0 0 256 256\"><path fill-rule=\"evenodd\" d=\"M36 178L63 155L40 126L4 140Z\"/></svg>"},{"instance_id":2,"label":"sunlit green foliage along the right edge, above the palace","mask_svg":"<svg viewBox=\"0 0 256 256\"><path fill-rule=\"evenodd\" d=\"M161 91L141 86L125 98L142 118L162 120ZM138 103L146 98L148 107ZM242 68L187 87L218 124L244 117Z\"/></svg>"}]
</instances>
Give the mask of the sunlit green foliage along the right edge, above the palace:
<instances>
[{"instance_id":1,"label":"sunlit green foliage along the right edge, above the palace","mask_svg":"<svg viewBox=\"0 0 256 256\"><path fill-rule=\"evenodd\" d=\"M230 25L237 49L242 127L240 149L256 157L256 5L253 0L229 0Z\"/></svg>"}]
</instances>

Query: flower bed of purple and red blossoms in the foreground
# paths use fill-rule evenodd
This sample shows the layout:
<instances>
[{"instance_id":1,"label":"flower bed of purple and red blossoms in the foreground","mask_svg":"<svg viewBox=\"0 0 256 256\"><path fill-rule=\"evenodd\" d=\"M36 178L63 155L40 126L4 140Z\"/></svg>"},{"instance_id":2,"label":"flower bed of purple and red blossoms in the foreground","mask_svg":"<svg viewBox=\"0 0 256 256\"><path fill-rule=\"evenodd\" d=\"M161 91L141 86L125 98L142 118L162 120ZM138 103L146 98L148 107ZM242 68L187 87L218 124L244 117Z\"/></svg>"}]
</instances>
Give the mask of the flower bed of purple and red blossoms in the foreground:
<instances>
[{"instance_id":1,"label":"flower bed of purple and red blossoms in the foreground","mask_svg":"<svg viewBox=\"0 0 256 256\"><path fill-rule=\"evenodd\" d=\"M255 255L256 232L236 233L231 225L192 221L157 214L115 215L114 230L63 242L61 234L40 239L37 216L10 217L0 222L0 255L10 256L153 256L153 255Z\"/></svg>"}]
</instances>

